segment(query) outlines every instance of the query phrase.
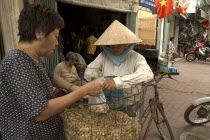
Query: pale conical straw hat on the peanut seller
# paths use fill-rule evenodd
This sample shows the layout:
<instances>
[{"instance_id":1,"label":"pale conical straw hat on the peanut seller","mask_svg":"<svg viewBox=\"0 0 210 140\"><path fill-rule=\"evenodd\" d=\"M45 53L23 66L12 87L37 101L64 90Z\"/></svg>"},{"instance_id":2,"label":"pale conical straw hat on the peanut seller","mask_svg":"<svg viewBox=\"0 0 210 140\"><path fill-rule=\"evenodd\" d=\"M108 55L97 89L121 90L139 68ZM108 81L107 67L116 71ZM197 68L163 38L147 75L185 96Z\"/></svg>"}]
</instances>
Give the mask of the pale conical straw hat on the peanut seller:
<instances>
[{"instance_id":1,"label":"pale conical straw hat on the peanut seller","mask_svg":"<svg viewBox=\"0 0 210 140\"><path fill-rule=\"evenodd\" d=\"M142 40L130 29L115 20L99 37L94 45L118 45L139 43Z\"/></svg>"}]
</instances>

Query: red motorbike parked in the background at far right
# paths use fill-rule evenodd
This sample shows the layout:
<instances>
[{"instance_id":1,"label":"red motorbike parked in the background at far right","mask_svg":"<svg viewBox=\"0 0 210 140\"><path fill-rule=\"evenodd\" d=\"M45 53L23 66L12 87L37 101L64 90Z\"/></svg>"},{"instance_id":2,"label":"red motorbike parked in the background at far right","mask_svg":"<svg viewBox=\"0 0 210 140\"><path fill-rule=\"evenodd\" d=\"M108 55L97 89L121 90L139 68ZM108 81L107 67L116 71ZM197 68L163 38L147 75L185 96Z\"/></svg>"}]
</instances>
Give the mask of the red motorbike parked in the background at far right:
<instances>
[{"instance_id":1,"label":"red motorbike parked in the background at far right","mask_svg":"<svg viewBox=\"0 0 210 140\"><path fill-rule=\"evenodd\" d=\"M197 42L194 49L187 52L186 60L189 62L194 61L196 58L198 60L207 61L210 59L210 48L205 46L201 42Z\"/></svg>"}]
</instances>

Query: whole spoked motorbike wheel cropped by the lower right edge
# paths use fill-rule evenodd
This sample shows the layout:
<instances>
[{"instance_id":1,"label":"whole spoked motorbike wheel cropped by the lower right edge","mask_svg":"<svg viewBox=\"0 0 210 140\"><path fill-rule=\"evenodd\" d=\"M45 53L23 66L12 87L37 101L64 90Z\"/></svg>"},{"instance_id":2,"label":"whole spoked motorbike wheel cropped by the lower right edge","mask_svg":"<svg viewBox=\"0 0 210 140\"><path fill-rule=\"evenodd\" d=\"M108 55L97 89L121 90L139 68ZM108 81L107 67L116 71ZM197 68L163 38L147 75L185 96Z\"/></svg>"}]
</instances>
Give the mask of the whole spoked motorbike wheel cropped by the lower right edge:
<instances>
[{"instance_id":1,"label":"whole spoked motorbike wheel cropped by the lower right edge","mask_svg":"<svg viewBox=\"0 0 210 140\"><path fill-rule=\"evenodd\" d=\"M191 125L201 125L210 122L210 102L191 105L184 113L184 119Z\"/></svg>"}]
</instances>

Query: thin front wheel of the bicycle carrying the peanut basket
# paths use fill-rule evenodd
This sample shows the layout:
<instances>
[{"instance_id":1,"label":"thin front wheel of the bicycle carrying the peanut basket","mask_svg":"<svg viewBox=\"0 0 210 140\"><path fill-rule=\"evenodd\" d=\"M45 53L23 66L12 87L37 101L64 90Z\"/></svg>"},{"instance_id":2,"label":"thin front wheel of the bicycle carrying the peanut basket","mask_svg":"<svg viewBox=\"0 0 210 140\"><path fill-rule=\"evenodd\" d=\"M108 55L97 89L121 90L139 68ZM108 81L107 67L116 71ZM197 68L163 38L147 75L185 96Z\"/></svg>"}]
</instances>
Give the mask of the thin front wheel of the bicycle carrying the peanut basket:
<instances>
[{"instance_id":1,"label":"thin front wheel of the bicycle carrying the peanut basket","mask_svg":"<svg viewBox=\"0 0 210 140\"><path fill-rule=\"evenodd\" d=\"M157 106L156 114L154 115L154 121L163 140L174 140L174 135L168 119L166 118L163 111L162 104Z\"/></svg>"}]
</instances>

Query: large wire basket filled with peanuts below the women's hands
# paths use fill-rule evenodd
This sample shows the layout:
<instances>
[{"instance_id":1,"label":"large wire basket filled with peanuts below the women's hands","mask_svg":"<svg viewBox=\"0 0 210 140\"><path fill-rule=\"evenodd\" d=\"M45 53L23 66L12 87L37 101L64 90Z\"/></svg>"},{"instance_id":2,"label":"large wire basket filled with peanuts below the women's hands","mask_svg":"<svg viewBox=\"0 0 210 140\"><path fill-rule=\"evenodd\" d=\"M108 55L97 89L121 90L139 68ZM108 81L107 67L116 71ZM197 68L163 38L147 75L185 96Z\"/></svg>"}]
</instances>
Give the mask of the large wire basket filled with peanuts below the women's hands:
<instances>
[{"instance_id":1,"label":"large wire basket filled with peanuts below the women's hands","mask_svg":"<svg viewBox=\"0 0 210 140\"><path fill-rule=\"evenodd\" d=\"M67 140L139 139L145 92L141 85L122 91L123 97L100 104L87 104L83 100L62 112ZM107 113L91 110L91 106L97 105L109 106L109 110Z\"/></svg>"}]
</instances>

